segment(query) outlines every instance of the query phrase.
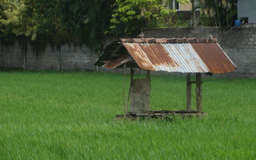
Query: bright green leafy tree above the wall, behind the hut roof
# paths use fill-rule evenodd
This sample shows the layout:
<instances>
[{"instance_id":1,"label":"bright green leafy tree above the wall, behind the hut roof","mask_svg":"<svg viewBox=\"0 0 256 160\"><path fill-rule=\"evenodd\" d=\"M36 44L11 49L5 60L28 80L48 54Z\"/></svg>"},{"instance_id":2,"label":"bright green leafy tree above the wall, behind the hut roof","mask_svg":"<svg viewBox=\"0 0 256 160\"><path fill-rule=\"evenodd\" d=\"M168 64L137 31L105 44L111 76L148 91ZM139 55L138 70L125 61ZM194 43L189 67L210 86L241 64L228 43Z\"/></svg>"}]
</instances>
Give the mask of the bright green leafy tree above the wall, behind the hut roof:
<instances>
[{"instance_id":1,"label":"bright green leafy tree above the wall, behind the hut roof","mask_svg":"<svg viewBox=\"0 0 256 160\"><path fill-rule=\"evenodd\" d=\"M188 0L178 0L188 3ZM172 14L176 10L165 0L116 0L110 33L132 34L143 27L170 27Z\"/></svg>"}]
</instances>

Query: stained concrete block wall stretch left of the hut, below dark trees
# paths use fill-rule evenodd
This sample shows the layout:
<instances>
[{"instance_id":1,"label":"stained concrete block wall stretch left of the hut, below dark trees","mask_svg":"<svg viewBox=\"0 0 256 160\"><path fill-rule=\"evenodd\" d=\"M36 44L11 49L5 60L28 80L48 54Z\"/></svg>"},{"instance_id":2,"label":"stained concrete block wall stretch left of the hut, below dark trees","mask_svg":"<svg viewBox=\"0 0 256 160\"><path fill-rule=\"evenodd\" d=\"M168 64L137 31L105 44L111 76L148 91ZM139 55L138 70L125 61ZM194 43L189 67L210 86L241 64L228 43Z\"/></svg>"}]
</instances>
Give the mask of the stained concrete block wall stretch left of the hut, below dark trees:
<instances>
[{"instance_id":1,"label":"stained concrete block wall stretch left of the hut, below dark trees","mask_svg":"<svg viewBox=\"0 0 256 160\"><path fill-rule=\"evenodd\" d=\"M15 41L12 44L1 44L0 67L2 70L96 70L93 64L98 54L86 44L70 43L50 44L49 38L43 39L40 44L27 43L26 51L22 50L23 42ZM38 47L39 46L39 47ZM24 48L24 47L23 47ZM24 61L23 54L26 54Z\"/></svg>"}]
</instances>

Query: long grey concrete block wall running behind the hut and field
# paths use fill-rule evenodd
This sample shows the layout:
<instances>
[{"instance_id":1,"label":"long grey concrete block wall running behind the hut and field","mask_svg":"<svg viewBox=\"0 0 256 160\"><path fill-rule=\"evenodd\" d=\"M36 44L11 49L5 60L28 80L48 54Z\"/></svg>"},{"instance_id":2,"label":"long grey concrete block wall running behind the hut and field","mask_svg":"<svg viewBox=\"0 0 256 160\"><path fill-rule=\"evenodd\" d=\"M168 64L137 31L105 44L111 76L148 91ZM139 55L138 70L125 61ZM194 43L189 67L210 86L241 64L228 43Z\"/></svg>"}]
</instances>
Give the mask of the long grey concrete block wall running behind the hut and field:
<instances>
[{"instance_id":1,"label":"long grey concrete block wall running behind the hut and field","mask_svg":"<svg viewBox=\"0 0 256 160\"><path fill-rule=\"evenodd\" d=\"M214 75L221 77L256 78L256 24L243 24L241 27L182 27L182 28L144 28L145 38L209 38L212 34L237 67L237 71L228 74ZM135 36L130 36L135 37ZM127 36L108 36L104 38L106 46L112 40L128 38ZM27 43L26 61L24 48L16 40L12 45L1 44L0 65L2 69L23 70L92 70L96 71L99 53L95 53L88 44L81 42L63 42L54 45L46 39L41 47L39 44ZM38 49L39 48L39 49ZM124 72L119 68L106 69L102 72ZM138 72L138 71L137 71ZM157 72L154 74L169 74ZM180 75L180 73L172 73Z\"/></svg>"}]
</instances>

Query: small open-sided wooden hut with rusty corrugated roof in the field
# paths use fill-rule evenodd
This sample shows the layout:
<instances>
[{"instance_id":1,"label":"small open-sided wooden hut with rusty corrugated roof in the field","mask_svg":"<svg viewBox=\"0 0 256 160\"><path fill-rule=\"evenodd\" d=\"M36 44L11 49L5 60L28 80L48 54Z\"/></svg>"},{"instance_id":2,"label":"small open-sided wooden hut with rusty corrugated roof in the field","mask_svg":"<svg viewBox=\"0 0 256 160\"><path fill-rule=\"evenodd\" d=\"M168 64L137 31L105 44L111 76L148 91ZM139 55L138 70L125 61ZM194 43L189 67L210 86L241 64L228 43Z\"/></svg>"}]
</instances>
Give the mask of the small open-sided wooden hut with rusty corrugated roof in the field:
<instances>
[{"instance_id":1,"label":"small open-sided wooden hut with rusty corrugated roof in the field","mask_svg":"<svg viewBox=\"0 0 256 160\"><path fill-rule=\"evenodd\" d=\"M130 118L162 119L175 115L207 115L202 112L202 73L222 74L236 70L236 66L219 46L216 38L120 39L106 46L94 65L131 68L128 95L131 97L130 111L125 111L125 116ZM147 78L133 79L133 68L147 70ZM150 70L188 73L186 110L150 110ZM195 82L190 80L190 73L196 73ZM196 83L196 110L191 110L192 83Z\"/></svg>"}]
</instances>

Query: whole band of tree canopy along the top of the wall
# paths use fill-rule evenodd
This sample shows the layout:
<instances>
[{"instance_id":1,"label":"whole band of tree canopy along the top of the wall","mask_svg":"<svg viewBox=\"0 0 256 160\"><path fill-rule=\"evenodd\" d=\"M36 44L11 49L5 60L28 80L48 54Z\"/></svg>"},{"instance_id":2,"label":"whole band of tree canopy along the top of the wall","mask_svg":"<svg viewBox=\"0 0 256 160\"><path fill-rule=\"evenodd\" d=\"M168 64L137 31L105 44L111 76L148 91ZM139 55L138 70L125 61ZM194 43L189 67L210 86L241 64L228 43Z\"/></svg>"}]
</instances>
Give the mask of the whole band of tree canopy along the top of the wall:
<instances>
[{"instance_id":1,"label":"whole band of tree canopy along the top of the wall","mask_svg":"<svg viewBox=\"0 0 256 160\"><path fill-rule=\"evenodd\" d=\"M99 49L106 34L132 34L145 27L184 26L173 16L173 0L1 0L0 37L78 35ZM177 0L182 4L195 0ZM229 25L237 0L198 0L199 20L191 26ZM226 2L226 3L225 3ZM195 23L196 22L196 23ZM231 23L232 24L232 23ZM186 23L185 26L188 26Z\"/></svg>"}]
</instances>

